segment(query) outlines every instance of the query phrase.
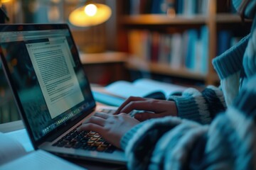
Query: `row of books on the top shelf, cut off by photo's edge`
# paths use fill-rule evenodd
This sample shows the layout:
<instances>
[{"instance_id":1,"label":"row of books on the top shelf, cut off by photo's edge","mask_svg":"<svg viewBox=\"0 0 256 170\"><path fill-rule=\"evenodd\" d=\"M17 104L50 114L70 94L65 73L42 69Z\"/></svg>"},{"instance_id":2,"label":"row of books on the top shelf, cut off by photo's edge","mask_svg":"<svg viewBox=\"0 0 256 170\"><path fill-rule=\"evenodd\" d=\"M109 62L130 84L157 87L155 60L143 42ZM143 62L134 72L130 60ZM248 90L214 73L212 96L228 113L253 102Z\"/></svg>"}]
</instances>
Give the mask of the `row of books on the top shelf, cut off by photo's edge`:
<instances>
[{"instance_id":1,"label":"row of books on the top shelf, cut off by photo's edge","mask_svg":"<svg viewBox=\"0 0 256 170\"><path fill-rule=\"evenodd\" d=\"M127 14L137 15L142 13L172 13L193 15L205 14L209 0L128 0Z\"/></svg>"}]
</instances>

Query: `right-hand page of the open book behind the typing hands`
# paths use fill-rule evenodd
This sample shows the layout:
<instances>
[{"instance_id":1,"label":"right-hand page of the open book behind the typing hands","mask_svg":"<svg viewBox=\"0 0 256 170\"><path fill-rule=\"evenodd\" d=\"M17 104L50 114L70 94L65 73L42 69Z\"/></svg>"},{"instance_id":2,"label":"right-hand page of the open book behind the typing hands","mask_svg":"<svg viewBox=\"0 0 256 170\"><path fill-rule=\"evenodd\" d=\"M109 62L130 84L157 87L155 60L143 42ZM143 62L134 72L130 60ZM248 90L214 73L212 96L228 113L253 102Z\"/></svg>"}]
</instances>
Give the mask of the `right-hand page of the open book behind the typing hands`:
<instances>
[{"instance_id":1,"label":"right-hand page of the open book behind the typing hands","mask_svg":"<svg viewBox=\"0 0 256 170\"><path fill-rule=\"evenodd\" d=\"M178 86L175 84L164 83L161 81L155 81L152 79L137 79L134 81L134 86L137 88L144 88L148 91L162 91L166 98L176 92L182 92L186 89L184 86Z\"/></svg>"}]
</instances>

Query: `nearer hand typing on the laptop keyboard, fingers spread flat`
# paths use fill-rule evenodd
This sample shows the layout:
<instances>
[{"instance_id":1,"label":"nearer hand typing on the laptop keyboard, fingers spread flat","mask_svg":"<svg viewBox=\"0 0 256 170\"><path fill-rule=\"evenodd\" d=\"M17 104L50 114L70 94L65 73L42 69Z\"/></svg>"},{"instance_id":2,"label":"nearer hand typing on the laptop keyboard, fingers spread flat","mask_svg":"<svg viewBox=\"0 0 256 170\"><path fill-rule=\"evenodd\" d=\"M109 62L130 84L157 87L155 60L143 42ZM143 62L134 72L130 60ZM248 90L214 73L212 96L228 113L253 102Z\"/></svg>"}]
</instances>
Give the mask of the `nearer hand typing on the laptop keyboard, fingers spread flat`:
<instances>
[{"instance_id":1,"label":"nearer hand typing on the laptop keyboard, fingers spread flat","mask_svg":"<svg viewBox=\"0 0 256 170\"><path fill-rule=\"evenodd\" d=\"M120 148L122 136L139 123L130 115L121 113L110 115L107 113L95 113L78 128L78 131L87 130L99 133L107 142Z\"/></svg>"}]
</instances>

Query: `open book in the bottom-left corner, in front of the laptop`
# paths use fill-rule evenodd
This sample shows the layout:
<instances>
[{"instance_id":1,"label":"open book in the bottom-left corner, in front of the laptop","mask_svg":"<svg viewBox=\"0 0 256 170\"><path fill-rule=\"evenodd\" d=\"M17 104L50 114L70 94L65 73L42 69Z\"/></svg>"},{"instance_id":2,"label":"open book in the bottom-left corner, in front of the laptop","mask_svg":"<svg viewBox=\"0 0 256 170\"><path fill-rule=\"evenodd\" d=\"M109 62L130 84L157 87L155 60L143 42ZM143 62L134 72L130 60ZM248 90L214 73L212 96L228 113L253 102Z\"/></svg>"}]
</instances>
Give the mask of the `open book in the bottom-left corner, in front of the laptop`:
<instances>
[{"instance_id":1,"label":"open book in the bottom-left corner, in front of the laptop","mask_svg":"<svg viewBox=\"0 0 256 170\"><path fill-rule=\"evenodd\" d=\"M83 168L41 149L27 152L21 142L0 132L0 170Z\"/></svg>"}]
</instances>

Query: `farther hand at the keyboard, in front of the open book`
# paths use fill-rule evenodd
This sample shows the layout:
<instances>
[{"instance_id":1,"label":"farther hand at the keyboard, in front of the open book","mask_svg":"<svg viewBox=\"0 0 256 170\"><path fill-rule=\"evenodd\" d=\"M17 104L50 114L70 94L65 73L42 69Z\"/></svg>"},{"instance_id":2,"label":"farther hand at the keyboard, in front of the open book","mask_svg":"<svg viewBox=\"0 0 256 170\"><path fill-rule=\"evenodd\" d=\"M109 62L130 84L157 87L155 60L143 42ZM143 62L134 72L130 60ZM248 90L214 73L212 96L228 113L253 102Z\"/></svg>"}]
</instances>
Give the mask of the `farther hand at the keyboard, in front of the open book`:
<instances>
[{"instance_id":1,"label":"farther hand at the keyboard, in front of the open book","mask_svg":"<svg viewBox=\"0 0 256 170\"><path fill-rule=\"evenodd\" d=\"M117 109L114 115L119 113L130 113L131 111L143 111L134 115L139 121L151 118L161 118L166 115L178 115L176 103L174 101L163 101L150 98L129 97Z\"/></svg>"}]
</instances>

